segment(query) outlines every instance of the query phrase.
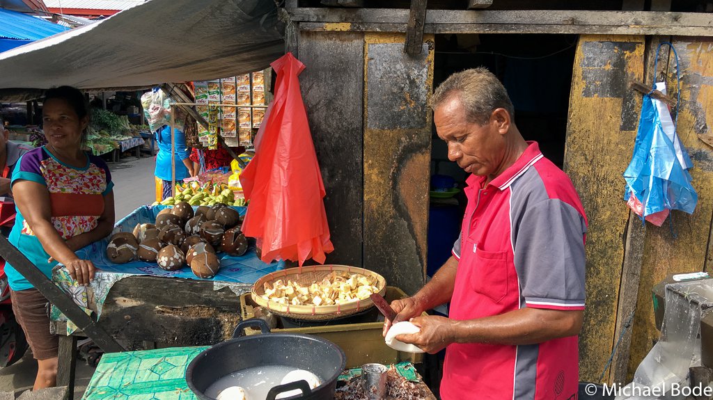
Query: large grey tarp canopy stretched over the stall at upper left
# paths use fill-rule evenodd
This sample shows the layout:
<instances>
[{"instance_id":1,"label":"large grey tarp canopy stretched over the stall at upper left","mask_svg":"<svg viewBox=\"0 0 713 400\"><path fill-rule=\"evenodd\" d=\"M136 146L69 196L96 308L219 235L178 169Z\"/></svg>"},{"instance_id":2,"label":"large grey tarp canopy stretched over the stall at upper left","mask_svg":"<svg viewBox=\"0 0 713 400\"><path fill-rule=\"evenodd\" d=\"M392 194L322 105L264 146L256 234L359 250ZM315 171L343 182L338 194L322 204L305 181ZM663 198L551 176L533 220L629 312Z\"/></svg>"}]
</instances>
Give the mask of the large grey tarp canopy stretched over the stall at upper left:
<instances>
[{"instance_id":1,"label":"large grey tarp canopy stretched over the stall at upper left","mask_svg":"<svg viewBox=\"0 0 713 400\"><path fill-rule=\"evenodd\" d=\"M72 85L146 88L267 68L284 54L272 0L149 0L0 53L0 97Z\"/></svg>"}]
</instances>

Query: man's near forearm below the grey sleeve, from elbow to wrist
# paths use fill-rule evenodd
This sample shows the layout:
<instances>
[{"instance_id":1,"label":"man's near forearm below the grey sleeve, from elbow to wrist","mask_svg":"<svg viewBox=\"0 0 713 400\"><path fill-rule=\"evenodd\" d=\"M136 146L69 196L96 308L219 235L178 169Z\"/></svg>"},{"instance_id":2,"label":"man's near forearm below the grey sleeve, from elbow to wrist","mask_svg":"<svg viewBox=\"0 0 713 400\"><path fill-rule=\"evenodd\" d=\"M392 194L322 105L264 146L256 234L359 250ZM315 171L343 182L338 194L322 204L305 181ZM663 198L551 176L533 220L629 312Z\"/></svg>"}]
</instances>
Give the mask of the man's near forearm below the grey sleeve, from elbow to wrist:
<instances>
[{"instance_id":1,"label":"man's near forearm below the grey sleeve, from elbow to wrist","mask_svg":"<svg viewBox=\"0 0 713 400\"><path fill-rule=\"evenodd\" d=\"M535 344L578 335L584 312L520 308L476 320L451 320L452 342Z\"/></svg>"}]
</instances>

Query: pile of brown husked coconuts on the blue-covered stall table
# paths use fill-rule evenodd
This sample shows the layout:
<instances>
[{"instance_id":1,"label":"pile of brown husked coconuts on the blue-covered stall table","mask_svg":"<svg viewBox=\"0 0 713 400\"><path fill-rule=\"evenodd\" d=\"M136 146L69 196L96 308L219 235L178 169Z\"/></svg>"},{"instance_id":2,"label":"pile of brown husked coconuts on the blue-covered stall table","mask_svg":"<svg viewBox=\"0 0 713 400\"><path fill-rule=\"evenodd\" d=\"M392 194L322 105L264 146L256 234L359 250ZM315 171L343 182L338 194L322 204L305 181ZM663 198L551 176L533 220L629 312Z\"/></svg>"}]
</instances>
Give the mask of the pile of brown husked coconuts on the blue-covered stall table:
<instances>
[{"instance_id":1,"label":"pile of brown husked coconuts on the blue-covered stall table","mask_svg":"<svg viewBox=\"0 0 713 400\"><path fill-rule=\"evenodd\" d=\"M138 223L133 233L115 233L106 256L116 264L138 259L170 271L188 264L198 278L212 278L220 268L217 252L242 256L247 251L241 223L240 214L225 204L200 206L194 212L181 201L160 211L155 223Z\"/></svg>"}]
</instances>

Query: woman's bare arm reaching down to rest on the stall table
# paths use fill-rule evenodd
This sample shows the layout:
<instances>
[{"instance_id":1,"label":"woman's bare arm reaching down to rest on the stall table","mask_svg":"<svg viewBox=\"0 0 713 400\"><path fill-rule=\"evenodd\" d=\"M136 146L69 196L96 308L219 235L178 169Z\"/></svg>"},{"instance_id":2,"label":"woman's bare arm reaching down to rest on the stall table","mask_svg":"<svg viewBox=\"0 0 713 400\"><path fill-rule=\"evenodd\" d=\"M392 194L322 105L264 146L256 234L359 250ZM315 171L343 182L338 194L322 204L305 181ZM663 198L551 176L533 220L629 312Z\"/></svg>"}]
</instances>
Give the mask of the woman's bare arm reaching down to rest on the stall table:
<instances>
[{"instance_id":1,"label":"woman's bare arm reaching down to rest on the stall table","mask_svg":"<svg viewBox=\"0 0 713 400\"><path fill-rule=\"evenodd\" d=\"M65 265L80 285L87 285L94 278L94 265L78 258L53 226L47 187L34 181L16 180L12 189L20 214L44 250Z\"/></svg>"}]
</instances>

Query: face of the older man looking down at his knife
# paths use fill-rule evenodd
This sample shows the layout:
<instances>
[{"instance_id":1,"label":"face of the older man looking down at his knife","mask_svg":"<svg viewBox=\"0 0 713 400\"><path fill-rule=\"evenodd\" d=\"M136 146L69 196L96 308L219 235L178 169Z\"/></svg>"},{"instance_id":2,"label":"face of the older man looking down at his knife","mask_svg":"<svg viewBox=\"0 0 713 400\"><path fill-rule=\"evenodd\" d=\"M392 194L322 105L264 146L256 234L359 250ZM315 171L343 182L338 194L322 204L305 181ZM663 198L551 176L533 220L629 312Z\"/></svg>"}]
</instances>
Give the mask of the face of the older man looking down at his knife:
<instances>
[{"instance_id":1,"label":"face of the older man looking down at his knife","mask_svg":"<svg viewBox=\"0 0 713 400\"><path fill-rule=\"evenodd\" d=\"M438 137L448 144L448 159L469 174L488 176L503 163L506 142L491 119L485 125L468 122L458 96L446 100L434 112Z\"/></svg>"}]
</instances>

